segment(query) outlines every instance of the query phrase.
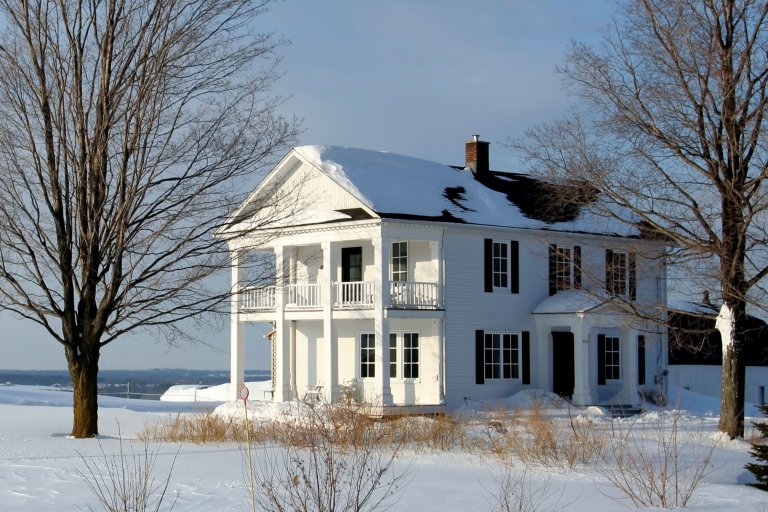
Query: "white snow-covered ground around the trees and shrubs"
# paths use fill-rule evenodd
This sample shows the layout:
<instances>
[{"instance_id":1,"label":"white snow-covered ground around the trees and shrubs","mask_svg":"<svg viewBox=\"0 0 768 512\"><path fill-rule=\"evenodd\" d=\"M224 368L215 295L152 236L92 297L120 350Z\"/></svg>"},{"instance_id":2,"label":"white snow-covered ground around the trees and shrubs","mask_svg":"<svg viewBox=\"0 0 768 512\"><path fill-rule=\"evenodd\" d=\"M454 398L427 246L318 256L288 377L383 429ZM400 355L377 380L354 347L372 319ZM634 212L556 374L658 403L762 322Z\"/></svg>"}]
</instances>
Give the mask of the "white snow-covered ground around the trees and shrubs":
<instances>
[{"instance_id":1,"label":"white snow-covered ground around the trees and shrubs","mask_svg":"<svg viewBox=\"0 0 768 512\"><path fill-rule=\"evenodd\" d=\"M254 387L256 385L254 384ZM215 392L213 390L212 392ZM541 392L540 392L541 393ZM252 396L254 393L252 393ZM544 395L542 395L544 396ZM260 397L259 397L260 398ZM507 400L510 406L526 405L532 395L519 395ZM184 412L195 407L189 402L144 401L100 397L99 440L69 439L71 428L71 395L67 392L32 386L0 386L0 510L1 511L66 511L82 510L87 503L100 510L95 497L76 471L84 469L81 455L98 461L99 443L107 454L118 451L118 433L124 439L135 439L148 420L158 416ZM695 426L712 439L717 425L717 401L682 392L680 404L686 425ZM255 402L249 410L269 416L276 409ZM242 405L240 405L242 407ZM469 403L465 413L483 410L488 404ZM562 409L563 404L553 404ZM235 404L225 405L236 408ZM752 409L750 409L752 410ZM608 421L597 408L590 411L596 421ZM258 413L257 413L258 414ZM652 419L657 412L647 413ZM640 421L643 421L641 417ZM157 474L162 477L170 467L178 445L160 447ZM746 487L750 475L743 469L750 461L749 446L743 441L721 444L714 459L713 471L697 490L693 505L697 511L768 510L768 493ZM258 447L255 452L263 453ZM399 463L400 467L405 461ZM490 491L497 469L476 455L462 452L417 454L413 456L413 479L392 510L474 511L489 510ZM171 479L171 489L179 492L178 511L243 511L250 510L242 481L242 455L235 445L184 445ZM550 479L550 487L563 489L561 503L565 510L624 510L614 497L615 490L594 469L577 469L567 473L540 470L532 476L533 484Z\"/></svg>"}]
</instances>

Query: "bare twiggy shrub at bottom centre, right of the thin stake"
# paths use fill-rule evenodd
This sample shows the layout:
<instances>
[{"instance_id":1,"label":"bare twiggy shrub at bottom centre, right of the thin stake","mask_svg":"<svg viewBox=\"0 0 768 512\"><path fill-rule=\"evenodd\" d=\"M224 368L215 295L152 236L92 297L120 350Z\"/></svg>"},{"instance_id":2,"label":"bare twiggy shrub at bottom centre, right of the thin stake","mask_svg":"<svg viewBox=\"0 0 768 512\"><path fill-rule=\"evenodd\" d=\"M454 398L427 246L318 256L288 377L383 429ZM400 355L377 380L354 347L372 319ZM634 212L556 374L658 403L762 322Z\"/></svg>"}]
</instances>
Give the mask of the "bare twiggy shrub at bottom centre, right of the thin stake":
<instances>
[{"instance_id":1,"label":"bare twiggy shrub at bottom centre, right of the thin stake","mask_svg":"<svg viewBox=\"0 0 768 512\"><path fill-rule=\"evenodd\" d=\"M348 406L318 407L292 428L302 443L284 438L246 459L253 508L283 511L371 511L389 508L408 483L410 465L393 464L405 444ZM245 455L245 450L243 450Z\"/></svg>"}]
</instances>

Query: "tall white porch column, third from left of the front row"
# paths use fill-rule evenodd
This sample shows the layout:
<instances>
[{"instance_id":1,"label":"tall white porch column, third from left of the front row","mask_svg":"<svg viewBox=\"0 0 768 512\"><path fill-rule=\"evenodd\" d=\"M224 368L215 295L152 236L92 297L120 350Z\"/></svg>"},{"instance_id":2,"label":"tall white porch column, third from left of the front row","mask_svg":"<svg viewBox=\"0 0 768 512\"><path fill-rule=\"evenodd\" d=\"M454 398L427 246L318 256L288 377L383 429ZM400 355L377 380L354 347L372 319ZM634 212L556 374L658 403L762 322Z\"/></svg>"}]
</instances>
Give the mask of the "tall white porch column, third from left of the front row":
<instances>
[{"instance_id":1,"label":"tall white porch column, third from left of the front row","mask_svg":"<svg viewBox=\"0 0 768 512\"><path fill-rule=\"evenodd\" d=\"M325 375L323 385L325 399L334 402L339 398L339 334L333 319L336 301L333 282L339 265L338 242L323 242L323 342L325 343ZM319 356L320 357L320 356Z\"/></svg>"}]
</instances>

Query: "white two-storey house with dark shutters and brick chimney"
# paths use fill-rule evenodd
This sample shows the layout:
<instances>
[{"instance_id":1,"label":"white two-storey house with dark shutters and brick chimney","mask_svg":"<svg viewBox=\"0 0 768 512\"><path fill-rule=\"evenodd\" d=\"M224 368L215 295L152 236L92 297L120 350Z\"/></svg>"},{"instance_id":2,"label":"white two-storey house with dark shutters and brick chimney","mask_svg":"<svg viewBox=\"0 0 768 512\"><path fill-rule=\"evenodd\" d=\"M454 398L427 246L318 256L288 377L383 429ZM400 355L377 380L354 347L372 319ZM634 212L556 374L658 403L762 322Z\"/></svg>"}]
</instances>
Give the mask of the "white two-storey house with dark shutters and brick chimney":
<instances>
[{"instance_id":1,"label":"white two-storey house with dark shutters and brick chimney","mask_svg":"<svg viewBox=\"0 0 768 512\"><path fill-rule=\"evenodd\" d=\"M575 190L490 171L488 148L475 136L458 167L292 149L217 233L238 292L232 397L244 323L270 322L277 401L354 389L453 409L542 388L639 403L666 368L666 338L627 306L665 304L652 264L664 244L582 211ZM274 254L274 286L245 286L249 251Z\"/></svg>"}]
</instances>

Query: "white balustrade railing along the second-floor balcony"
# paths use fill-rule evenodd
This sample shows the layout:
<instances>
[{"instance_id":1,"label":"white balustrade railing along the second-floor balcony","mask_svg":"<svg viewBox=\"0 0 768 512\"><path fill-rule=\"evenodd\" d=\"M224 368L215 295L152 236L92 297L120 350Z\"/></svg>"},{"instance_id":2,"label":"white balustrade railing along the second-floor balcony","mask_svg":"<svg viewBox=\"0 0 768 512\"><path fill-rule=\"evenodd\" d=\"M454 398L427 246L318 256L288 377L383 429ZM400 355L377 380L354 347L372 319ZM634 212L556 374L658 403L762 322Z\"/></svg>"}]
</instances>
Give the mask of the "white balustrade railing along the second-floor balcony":
<instances>
[{"instance_id":1,"label":"white balustrade railing along the second-floor balcony","mask_svg":"<svg viewBox=\"0 0 768 512\"><path fill-rule=\"evenodd\" d=\"M375 306L374 281L333 283L334 309L365 309ZM286 309L321 309L324 301L322 284L289 284L283 287L246 288L240 299L243 311L270 311L277 307L277 294L282 293ZM390 281L389 302L392 308L439 309L437 283Z\"/></svg>"}]
</instances>

